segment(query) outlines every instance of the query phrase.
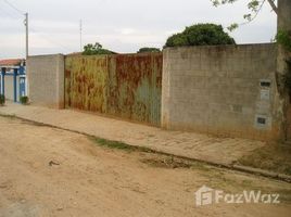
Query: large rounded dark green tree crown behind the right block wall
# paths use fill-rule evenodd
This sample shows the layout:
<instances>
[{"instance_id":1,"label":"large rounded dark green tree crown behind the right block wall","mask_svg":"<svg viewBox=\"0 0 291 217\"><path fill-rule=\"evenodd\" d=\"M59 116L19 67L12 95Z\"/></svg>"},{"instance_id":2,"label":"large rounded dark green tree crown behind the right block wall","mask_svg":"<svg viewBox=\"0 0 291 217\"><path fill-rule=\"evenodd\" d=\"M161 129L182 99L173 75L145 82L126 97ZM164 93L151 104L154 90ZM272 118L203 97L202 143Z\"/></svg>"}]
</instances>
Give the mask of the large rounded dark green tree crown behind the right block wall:
<instances>
[{"instance_id":1,"label":"large rounded dark green tree crown behind the right block wall","mask_svg":"<svg viewBox=\"0 0 291 217\"><path fill-rule=\"evenodd\" d=\"M216 44L236 44L236 42L233 38L224 31L222 25L195 24L186 27L182 33L170 36L165 47Z\"/></svg>"}]
</instances>

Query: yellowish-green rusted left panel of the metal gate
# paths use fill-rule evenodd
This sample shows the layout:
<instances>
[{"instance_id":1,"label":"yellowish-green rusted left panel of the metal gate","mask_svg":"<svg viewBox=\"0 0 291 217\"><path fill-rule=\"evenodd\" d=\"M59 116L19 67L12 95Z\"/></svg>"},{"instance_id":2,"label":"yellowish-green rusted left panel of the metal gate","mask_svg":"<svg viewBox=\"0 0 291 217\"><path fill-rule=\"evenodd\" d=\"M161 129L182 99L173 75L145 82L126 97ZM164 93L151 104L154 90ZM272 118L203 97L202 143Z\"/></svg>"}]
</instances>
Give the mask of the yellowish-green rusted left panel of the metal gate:
<instances>
[{"instance_id":1,"label":"yellowish-green rusted left panel of the metal gate","mask_svg":"<svg viewBox=\"0 0 291 217\"><path fill-rule=\"evenodd\" d=\"M106 56L68 56L66 71L71 72L66 87L68 107L90 112L106 112ZM67 68L68 67L68 68ZM67 92L68 91L68 92Z\"/></svg>"}]
</instances>

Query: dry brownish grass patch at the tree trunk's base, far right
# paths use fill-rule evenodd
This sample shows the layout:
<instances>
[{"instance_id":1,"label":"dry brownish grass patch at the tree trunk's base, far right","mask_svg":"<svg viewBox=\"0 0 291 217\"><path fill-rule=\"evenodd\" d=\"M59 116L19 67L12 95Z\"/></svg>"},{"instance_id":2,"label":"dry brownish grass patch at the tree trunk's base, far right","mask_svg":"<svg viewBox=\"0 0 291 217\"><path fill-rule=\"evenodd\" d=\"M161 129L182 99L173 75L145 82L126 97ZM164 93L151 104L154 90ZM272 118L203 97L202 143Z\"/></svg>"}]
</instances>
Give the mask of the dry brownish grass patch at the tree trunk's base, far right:
<instances>
[{"instance_id":1,"label":"dry brownish grass patch at the tree trunk's base, far right","mask_svg":"<svg viewBox=\"0 0 291 217\"><path fill-rule=\"evenodd\" d=\"M269 143L241 157L239 164L291 175L291 145Z\"/></svg>"}]
</instances>

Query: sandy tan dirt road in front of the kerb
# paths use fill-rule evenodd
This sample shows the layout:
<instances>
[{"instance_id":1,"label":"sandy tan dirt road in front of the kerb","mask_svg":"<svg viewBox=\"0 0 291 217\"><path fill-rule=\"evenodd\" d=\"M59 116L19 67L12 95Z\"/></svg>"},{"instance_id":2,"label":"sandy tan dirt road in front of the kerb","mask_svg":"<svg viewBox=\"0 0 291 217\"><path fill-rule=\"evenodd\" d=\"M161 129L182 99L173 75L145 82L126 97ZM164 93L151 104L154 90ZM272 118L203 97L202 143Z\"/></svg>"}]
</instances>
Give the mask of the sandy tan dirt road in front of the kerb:
<instances>
[{"instance_id":1,"label":"sandy tan dirt road in front of the kerb","mask_svg":"<svg viewBox=\"0 0 291 217\"><path fill-rule=\"evenodd\" d=\"M0 217L290 216L291 184L165 156L111 150L85 136L0 117ZM161 164L160 164L161 163ZM280 193L280 204L197 206L206 184Z\"/></svg>"}]
</instances>

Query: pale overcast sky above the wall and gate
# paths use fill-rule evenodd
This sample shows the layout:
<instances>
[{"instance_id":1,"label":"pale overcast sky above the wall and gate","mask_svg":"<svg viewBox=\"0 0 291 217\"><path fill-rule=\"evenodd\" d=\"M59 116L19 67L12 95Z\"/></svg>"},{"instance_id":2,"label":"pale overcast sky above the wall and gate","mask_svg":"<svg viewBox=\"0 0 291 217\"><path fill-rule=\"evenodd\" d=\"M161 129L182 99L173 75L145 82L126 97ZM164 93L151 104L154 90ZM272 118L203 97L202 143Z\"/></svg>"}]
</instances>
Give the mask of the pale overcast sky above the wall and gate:
<instances>
[{"instance_id":1,"label":"pale overcast sky above the wall and gate","mask_svg":"<svg viewBox=\"0 0 291 217\"><path fill-rule=\"evenodd\" d=\"M24 16L29 13L29 54L69 53L99 41L116 52L162 48L168 36L197 23L243 22L248 0L212 7L210 0L0 0L0 59L25 55ZM230 35L237 43L269 42L276 15L266 3L257 18Z\"/></svg>"}]
</instances>

